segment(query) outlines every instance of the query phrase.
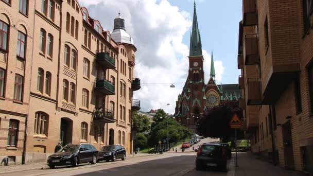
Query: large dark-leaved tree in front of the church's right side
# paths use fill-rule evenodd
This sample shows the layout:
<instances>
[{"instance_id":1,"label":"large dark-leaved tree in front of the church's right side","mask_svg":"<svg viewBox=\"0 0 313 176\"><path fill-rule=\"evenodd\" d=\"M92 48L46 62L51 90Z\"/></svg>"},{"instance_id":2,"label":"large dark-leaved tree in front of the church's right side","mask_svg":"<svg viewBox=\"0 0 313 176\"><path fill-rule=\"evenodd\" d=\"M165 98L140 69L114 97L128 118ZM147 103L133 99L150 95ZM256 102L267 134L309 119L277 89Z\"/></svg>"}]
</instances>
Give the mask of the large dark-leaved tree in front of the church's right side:
<instances>
[{"instance_id":1,"label":"large dark-leaved tree in front of the church's right side","mask_svg":"<svg viewBox=\"0 0 313 176\"><path fill-rule=\"evenodd\" d=\"M206 137L219 137L224 142L229 140L234 134L234 129L230 128L230 120L233 115L242 117L242 110L236 100L223 101L217 107L210 109L198 123L198 132Z\"/></svg>"}]
</instances>

